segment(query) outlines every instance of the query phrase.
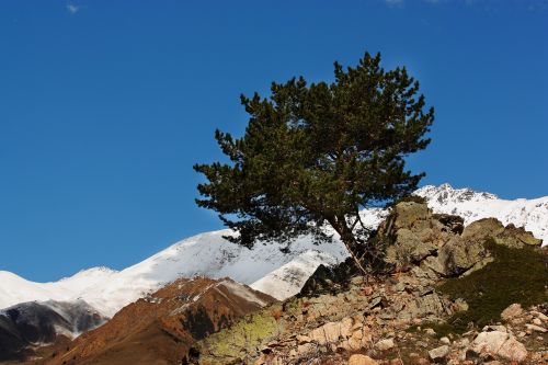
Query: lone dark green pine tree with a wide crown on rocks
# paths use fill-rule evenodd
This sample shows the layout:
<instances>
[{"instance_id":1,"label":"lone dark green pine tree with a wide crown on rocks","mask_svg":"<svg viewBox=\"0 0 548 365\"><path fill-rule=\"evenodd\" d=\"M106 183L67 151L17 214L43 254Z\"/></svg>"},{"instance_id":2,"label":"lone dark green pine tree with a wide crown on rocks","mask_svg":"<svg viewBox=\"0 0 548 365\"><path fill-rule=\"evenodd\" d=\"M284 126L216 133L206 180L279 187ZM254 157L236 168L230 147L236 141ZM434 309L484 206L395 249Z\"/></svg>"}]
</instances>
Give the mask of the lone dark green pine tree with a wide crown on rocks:
<instances>
[{"instance_id":1,"label":"lone dark green pine tree with a wide crown on rocks","mask_svg":"<svg viewBox=\"0 0 548 365\"><path fill-rule=\"evenodd\" d=\"M404 159L429 145L434 110L424 111L406 68L384 70L379 54L366 53L355 68L335 62L334 76L273 82L269 99L242 95L246 134L216 130L229 162L194 166L208 181L196 203L218 212L239 232L228 239L248 248L302 233L329 240L330 225L364 270L368 230L358 212L416 189L424 173L407 171Z\"/></svg>"}]
</instances>

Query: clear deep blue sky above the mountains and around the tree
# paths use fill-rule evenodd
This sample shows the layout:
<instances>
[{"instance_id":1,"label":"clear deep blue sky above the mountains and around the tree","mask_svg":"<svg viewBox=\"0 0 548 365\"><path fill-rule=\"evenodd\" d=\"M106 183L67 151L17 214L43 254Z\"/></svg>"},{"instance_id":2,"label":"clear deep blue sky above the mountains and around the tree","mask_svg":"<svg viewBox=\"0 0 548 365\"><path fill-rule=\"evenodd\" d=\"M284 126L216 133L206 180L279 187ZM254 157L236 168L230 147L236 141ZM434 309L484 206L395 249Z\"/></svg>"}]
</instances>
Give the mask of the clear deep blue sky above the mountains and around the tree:
<instances>
[{"instance_id":1,"label":"clear deep blue sky above the mountains and around the tree","mask_svg":"<svg viewBox=\"0 0 548 365\"><path fill-rule=\"evenodd\" d=\"M547 195L547 1L2 1L0 270L123 269L220 228L192 166L243 130L239 94L365 50L436 107L423 184Z\"/></svg>"}]
</instances>

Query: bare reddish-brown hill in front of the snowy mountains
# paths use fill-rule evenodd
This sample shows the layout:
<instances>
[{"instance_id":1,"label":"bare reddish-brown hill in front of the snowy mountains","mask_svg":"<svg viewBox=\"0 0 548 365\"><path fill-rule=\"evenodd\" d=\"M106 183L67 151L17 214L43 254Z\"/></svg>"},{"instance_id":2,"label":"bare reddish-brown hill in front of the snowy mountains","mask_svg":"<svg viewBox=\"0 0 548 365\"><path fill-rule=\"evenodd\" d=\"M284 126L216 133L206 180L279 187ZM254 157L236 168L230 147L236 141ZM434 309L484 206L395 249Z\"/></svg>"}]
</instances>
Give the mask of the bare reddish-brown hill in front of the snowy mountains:
<instances>
[{"instance_id":1,"label":"bare reddish-brown hill in front of the snowy mountains","mask_svg":"<svg viewBox=\"0 0 548 365\"><path fill-rule=\"evenodd\" d=\"M274 301L228 278L179 280L38 363L180 364L196 340Z\"/></svg>"}]
</instances>

